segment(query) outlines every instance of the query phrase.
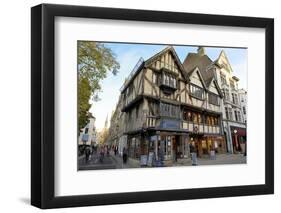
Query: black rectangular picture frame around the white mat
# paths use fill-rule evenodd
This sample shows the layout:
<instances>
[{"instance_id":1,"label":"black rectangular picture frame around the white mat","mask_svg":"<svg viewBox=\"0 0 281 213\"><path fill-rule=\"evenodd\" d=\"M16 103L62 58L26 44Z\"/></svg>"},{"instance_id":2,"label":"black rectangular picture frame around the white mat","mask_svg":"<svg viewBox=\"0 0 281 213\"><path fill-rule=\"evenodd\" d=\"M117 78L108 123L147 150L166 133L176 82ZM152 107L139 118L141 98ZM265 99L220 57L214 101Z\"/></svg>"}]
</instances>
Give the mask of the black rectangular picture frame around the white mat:
<instances>
[{"instance_id":1,"label":"black rectangular picture frame around the white mat","mask_svg":"<svg viewBox=\"0 0 281 213\"><path fill-rule=\"evenodd\" d=\"M56 197L54 21L58 16L265 29L265 184ZM273 19L53 4L41 4L31 8L32 205L46 209L272 193L274 193Z\"/></svg>"}]
</instances>

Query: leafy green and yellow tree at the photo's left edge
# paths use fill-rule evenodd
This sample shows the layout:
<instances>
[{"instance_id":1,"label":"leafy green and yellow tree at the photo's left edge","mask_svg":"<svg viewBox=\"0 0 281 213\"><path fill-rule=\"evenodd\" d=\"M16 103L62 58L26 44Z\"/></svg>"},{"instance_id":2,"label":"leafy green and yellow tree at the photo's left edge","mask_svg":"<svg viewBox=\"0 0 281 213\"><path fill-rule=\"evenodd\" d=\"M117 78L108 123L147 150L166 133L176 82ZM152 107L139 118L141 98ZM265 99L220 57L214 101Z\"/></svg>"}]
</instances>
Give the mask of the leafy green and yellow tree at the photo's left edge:
<instances>
[{"instance_id":1,"label":"leafy green and yellow tree at the photo's left edge","mask_svg":"<svg viewBox=\"0 0 281 213\"><path fill-rule=\"evenodd\" d=\"M115 54L104 44L94 41L78 41L78 128L83 128L89 120L89 103L92 98L99 100L100 81L108 72L117 74L120 68Z\"/></svg>"}]
</instances>

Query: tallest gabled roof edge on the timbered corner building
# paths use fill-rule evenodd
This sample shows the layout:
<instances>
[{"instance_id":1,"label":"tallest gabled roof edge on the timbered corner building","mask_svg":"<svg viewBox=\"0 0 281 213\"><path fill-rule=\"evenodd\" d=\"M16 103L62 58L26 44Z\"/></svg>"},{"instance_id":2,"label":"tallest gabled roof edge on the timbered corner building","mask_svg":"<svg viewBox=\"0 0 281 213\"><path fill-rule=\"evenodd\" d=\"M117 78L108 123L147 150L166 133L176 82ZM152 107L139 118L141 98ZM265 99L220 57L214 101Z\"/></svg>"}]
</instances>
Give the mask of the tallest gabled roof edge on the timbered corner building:
<instances>
[{"instance_id":1,"label":"tallest gabled roof edge on the timbered corner building","mask_svg":"<svg viewBox=\"0 0 281 213\"><path fill-rule=\"evenodd\" d=\"M168 46L166 48L164 48L163 50L161 50L160 52L156 53L155 55L153 55L152 57L150 57L149 59L147 59L144 62L144 66L148 67L149 65L151 65L154 61L156 61L159 57L161 57L162 55L166 54L167 52L171 52L176 64L178 65L180 72L182 73L183 77L185 78L185 72L184 72L184 67L174 49L173 46Z\"/></svg>"}]
</instances>

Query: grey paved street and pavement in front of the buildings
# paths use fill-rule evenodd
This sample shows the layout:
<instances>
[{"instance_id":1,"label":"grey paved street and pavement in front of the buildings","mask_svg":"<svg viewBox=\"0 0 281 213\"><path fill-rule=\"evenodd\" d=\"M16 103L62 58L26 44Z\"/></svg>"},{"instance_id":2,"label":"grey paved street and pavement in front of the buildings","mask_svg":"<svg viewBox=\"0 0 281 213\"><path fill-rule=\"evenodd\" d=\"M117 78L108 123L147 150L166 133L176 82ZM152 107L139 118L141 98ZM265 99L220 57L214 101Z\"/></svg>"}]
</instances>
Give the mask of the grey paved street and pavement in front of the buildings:
<instances>
[{"instance_id":1,"label":"grey paved street and pavement in front of the buildings","mask_svg":"<svg viewBox=\"0 0 281 213\"><path fill-rule=\"evenodd\" d=\"M246 157L242 154L219 154L214 160L208 156L198 158L198 166L200 165L223 165L223 164L245 164ZM167 166L192 166L192 161L188 159L178 159L177 162L170 163ZM103 161L100 161L98 154L93 154L91 159L86 162L85 157L79 157L79 170L97 170L97 169L123 169L123 168L138 168L140 167L138 160L129 159L126 164L119 155L114 155L112 152L109 156L104 156Z\"/></svg>"}]
</instances>

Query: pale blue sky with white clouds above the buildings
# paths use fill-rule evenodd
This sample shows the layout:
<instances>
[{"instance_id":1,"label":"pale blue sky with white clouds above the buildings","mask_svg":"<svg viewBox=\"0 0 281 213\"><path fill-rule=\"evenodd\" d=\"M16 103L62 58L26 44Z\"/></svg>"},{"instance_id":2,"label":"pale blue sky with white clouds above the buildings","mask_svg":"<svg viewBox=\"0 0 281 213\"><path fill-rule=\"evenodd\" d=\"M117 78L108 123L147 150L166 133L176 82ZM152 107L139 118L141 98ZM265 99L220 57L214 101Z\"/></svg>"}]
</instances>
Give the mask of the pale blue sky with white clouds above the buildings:
<instances>
[{"instance_id":1,"label":"pale blue sky with white clouds above the buildings","mask_svg":"<svg viewBox=\"0 0 281 213\"><path fill-rule=\"evenodd\" d=\"M98 102L93 102L90 112L96 117L96 127L101 130L104 127L105 120L110 117L116 107L120 88L124 79L129 76L134 66L142 57L144 60L163 50L167 45L150 45L150 44L128 44L128 43L104 43L116 55L120 64L117 75L109 73L102 80L102 91L99 93ZM197 52L198 46L177 46L173 45L181 62L190 52ZM211 60L216 60L220 52L224 50L231 64L233 74L237 76L239 88L247 89L247 49L243 48L222 48L222 47L205 47L206 54Z\"/></svg>"}]
</instances>

